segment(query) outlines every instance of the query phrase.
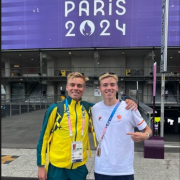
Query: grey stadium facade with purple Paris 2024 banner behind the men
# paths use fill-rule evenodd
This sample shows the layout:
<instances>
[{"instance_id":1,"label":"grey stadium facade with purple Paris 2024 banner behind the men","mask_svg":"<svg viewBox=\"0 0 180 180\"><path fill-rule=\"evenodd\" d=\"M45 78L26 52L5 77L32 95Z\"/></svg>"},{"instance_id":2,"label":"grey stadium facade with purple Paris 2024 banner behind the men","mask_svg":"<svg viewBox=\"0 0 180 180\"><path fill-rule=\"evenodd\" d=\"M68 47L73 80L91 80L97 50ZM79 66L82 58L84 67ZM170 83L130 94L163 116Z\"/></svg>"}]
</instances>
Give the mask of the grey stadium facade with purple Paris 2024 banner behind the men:
<instances>
[{"instance_id":1,"label":"grey stadium facade with purple Paris 2024 banner behind the men","mask_svg":"<svg viewBox=\"0 0 180 180\"><path fill-rule=\"evenodd\" d=\"M2 0L1 8L1 97L6 105L19 99L59 101L66 95L67 74L79 71L89 77L84 100L102 100L98 76L115 72L119 97L125 92L152 107L157 62L160 116L162 1ZM180 132L179 22L179 0L169 0L165 133L172 134Z\"/></svg>"}]
</instances>

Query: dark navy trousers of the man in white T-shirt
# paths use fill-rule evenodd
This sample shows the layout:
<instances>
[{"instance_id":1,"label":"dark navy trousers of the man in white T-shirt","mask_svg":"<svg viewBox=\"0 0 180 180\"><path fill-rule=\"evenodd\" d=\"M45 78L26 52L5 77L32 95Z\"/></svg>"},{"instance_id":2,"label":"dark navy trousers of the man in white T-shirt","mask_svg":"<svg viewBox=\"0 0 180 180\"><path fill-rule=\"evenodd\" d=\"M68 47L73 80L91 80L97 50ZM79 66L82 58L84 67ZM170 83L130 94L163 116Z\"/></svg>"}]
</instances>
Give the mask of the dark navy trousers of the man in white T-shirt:
<instances>
[{"instance_id":1,"label":"dark navy trousers of the man in white T-shirt","mask_svg":"<svg viewBox=\"0 0 180 180\"><path fill-rule=\"evenodd\" d=\"M124 176L108 176L103 174L94 173L95 180L134 180L134 175Z\"/></svg>"}]
</instances>

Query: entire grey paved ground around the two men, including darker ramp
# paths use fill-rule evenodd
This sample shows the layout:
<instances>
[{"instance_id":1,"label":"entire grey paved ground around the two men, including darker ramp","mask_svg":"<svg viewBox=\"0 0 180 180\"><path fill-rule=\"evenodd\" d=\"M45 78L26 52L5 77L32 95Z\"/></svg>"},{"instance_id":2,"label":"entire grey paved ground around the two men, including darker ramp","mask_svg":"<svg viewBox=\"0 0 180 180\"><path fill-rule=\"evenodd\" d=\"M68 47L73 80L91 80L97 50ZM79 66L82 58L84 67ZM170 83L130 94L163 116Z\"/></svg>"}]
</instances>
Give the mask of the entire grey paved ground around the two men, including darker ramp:
<instances>
[{"instance_id":1,"label":"entire grey paved ground around the two men, including darker ramp","mask_svg":"<svg viewBox=\"0 0 180 180\"><path fill-rule=\"evenodd\" d=\"M36 145L45 110L38 110L1 120L1 179L36 180ZM94 179L94 157L90 134L92 157L88 159L87 179ZM144 144L135 143L135 180L179 180L179 135L165 135L164 159L144 158Z\"/></svg>"}]
</instances>

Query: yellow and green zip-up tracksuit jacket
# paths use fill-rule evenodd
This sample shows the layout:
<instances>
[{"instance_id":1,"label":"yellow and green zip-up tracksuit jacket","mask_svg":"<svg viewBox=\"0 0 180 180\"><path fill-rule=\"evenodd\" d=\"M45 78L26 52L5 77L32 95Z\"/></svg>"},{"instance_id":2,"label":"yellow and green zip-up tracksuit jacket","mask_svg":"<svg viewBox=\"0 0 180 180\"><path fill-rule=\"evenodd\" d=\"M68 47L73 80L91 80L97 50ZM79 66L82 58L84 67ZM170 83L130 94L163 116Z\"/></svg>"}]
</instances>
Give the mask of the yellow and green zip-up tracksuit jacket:
<instances>
[{"instance_id":1,"label":"yellow and green zip-up tracksuit jacket","mask_svg":"<svg viewBox=\"0 0 180 180\"><path fill-rule=\"evenodd\" d=\"M89 113L93 104L86 102L86 104L88 104L89 106L89 112L87 112L86 110L87 108L86 108L84 135L82 137L83 161L72 163L71 142L81 141L83 102L81 100L75 101L70 97L67 97L67 100L69 105L73 139L71 139L69 135L69 126L68 126L65 101L64 101L63 117L61 117L61 115L57 111L57 104L51 105L46 111L42 125L42 130L37 145L38 166L43 166L43 165L47 166L46 162L50 161L52 165L59 168L76 169L77 167L82 166L87 162L87 148L90 151L89 137L88 137L89 122L92 125L92 121L89 116ZM91 126L91 128L93 130L93 126ZM52 134L52 129L54 129L53 134ZM96 146L95 135L94 135L94 143Z\"/></svg>"}]
</instances>

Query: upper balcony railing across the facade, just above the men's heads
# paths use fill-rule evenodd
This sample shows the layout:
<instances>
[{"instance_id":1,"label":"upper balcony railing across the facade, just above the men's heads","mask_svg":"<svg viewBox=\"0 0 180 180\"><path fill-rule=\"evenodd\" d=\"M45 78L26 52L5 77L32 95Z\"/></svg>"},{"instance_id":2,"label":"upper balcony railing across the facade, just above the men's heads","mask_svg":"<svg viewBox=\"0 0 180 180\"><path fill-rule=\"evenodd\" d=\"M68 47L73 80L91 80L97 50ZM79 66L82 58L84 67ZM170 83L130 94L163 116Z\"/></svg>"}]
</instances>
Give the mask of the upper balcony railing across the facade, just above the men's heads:
<instances>
[{"instance_id":1,"label":"upper balcony railing across the facade, just above the men's heads","mask_svg":"<svg viewBox=\"0 0 180 180\"><path fill-rule=\"evenodd\" d=\"M104 72L114 72L120 77L125 76L152 76L152 66L146 67L18 67L1 68L2 77L54 77L67 76L69 72L78 71L89 77L98 77ZM161 76L160 67L157 67L157 76ZM179 66L168 66L166 76L180 76Z\"/></svg>"}]
</instances>

